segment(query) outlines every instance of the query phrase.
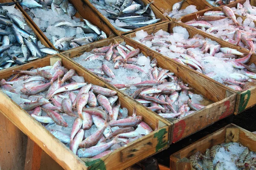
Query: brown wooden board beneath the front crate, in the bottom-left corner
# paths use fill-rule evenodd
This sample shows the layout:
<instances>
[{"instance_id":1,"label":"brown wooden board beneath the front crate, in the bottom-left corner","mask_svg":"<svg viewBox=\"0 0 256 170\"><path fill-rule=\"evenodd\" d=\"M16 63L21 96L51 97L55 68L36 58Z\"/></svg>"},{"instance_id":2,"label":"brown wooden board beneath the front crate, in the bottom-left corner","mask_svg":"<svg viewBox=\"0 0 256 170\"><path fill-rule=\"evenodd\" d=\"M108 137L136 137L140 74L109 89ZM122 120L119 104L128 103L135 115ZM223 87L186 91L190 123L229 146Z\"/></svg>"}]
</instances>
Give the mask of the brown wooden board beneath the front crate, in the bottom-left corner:
<instances>
[{"instance_id":1,"label":"brown wooden board beneath the front crate, in the bottom-left corner","mask_svg":"<svg viewBox=\"0 0 256 170\"><path fill-rule=\"evenodd\" d=\"M0 167L2 170L23 170L27 136L0 111Z\"/></svg>"}]
</instances>

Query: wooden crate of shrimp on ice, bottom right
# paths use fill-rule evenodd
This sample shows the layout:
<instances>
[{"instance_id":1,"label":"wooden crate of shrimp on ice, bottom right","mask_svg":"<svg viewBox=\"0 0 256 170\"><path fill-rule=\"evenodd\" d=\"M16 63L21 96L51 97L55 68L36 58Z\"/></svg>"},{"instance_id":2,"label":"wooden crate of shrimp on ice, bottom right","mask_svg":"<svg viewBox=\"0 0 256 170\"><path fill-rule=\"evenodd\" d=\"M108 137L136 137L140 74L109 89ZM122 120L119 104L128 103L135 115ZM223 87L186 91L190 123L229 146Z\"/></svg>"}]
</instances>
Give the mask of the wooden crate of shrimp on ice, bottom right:
<instances>
[{"instance_id":1,"label":"wooden crate of shrimp on ice, bottom right","mask_svg":"<svg viewBox=\"0 0 256 170\"><path fill-rule=\"evenodd\" d=\"M255 169L255 146L256 134L230 124L172 154L170 169Z\"/></svg>"}]
</instances>

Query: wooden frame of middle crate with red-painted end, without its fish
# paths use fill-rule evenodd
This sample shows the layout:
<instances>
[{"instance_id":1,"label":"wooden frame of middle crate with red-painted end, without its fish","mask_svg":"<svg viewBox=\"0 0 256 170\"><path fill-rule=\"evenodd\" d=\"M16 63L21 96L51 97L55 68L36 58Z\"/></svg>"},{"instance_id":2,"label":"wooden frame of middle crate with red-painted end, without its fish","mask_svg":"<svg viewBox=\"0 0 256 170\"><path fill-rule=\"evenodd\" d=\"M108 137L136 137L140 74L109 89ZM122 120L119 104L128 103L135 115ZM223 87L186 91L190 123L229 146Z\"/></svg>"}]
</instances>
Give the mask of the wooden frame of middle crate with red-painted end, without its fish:
<instances>
[{"instance_id":1,"label":"wooden frame of middle crate with red-painted end, without its fish","mask_svg":"<svg viewBox=\"0 0 256 170\"><path fill-rule=\"evenodd\" d=\"M168 26L167 23L164 23L164 25ZM216 83L210 81L209 79L204 79L204 77L198 76L199 74L197 72L190 72L187 69L183 69L180 65L177 65L171 59L166 57L161 57L159 54L148 50L148 48L145 48L141 44L134 43L132 40L128 39L125 36L116 37L108 41L102 40L99 42L92 43L90 45L85 45L83 47L80 47L74 50L65 51L61 54L66 56L69 59L73 57L79 57L81 54L84 54L85 51L89 52L93 48L107 46L111 42L116 43L119 41L121 42L125 41L126 44L131 45L134 48L135 47L140 48L140 51L145 56L151 56L152 58L156 58L158 67L168 69L171 72L175 73L177 76L181 77L184 82L189 83L189 85L193 87L193 90L195 91L195 93L202 94L203 96L207 97L207 99L214 102L200 111L196 111L195 113L192 113L191 115L183 117L182 119L177 119L171 122L172 124L171 143L177 142L193 133L196 133L199 130L204 129L205 127L213 124L214 122L217 122L218 120L231 115L234 112L235 101L236 101L236 95L234 93L232 92L230 93L230 91L227 91L225 88L217 85ZM76 65L81 66L77 62L75 61L73 62L76 63ZM82 66L81 68L85 69ZM189 76L185 76L185 75L189 75ZM105 83L108 84L108 82L105 82ZM124 95L127 95L124 92L122 93ZM133 99L130 96L128 97L130 99ZM138 105L141 105L139 102L137 103ZM153 113L153 111L149 110L148 108L147 110ZM201 122L200 125L197 122Z\"/></svg>"}]
</instances>

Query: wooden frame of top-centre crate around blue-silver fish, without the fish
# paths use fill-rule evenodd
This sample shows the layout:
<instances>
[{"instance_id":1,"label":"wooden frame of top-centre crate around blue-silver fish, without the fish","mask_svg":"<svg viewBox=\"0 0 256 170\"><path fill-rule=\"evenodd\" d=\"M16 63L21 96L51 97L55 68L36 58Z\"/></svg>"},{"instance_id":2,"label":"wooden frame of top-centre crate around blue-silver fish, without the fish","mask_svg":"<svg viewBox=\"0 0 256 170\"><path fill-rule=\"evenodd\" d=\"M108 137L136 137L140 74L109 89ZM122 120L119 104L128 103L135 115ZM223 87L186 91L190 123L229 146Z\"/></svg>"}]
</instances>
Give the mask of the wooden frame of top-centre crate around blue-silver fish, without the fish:
<instances>
[{"instance_id":1,"label":"wooden frame of top-centre crate around blue-silver fish, without the fish","mask_svg":"<svg viewBox=\"0 0 256 170\"><path fill-rule=\"evenodd\" d=\"M80 1L80 0L78 0L78 1ZM151 25L149 25L149 26L137 28L137 29L134 29L134 30L132 30L132 31L123 32L123 31L119 31L119 30L117 30L116 28L114 28L114 26L110 23L110 21L109 21L106 17L104 17L104 15L102 15L102 14L93 6L93 4L90 3L89 0L81 0L81 1L85 4L85 6L88 6L88 7L92 10L92 11L88 12L88 16L89 16L88 20L90 20L91 22L93 22L93 20L102 20L103 22L107 23L107 25L109 26L109 28L111 28L111 29L114 31L114 33L115 33L116 35L129 34L129 33L131 33L131 32L138 31L138 30L143 29L143 28L148 28L148 27L151 27L151 26L156 26L156 25L158 25L158 24L160 24L160 23L165 23L165 22L169 21L168 18L165 17L165 16L163 16L163 14L162 14L160 11L158 11L158 9L157 9L155 6L152 6L152 5L151 5L150 7L151 7L151 9L154 11L155 16L156 16L157 18L160 18L160 19L161 19L159 22L154 23L154 24L151 24ZM144 4L148 4L148 3L149 3L148 0L142 0L142 1L143 1Z\"/></svg>"}]
</instances>

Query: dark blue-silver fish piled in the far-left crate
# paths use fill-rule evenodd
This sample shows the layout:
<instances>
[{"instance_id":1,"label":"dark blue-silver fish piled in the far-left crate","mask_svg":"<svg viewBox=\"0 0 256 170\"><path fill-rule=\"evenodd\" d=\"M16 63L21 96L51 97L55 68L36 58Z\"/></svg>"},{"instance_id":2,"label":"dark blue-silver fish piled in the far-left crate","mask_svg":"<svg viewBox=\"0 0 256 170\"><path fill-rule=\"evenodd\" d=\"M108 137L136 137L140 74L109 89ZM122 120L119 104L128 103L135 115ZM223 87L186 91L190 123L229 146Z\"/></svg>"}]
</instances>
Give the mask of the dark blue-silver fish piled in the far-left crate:
<instances>
[{"instance_id":1,"label":"dark blue-silver fish piled in the far-left crate","mask_svg":"<svg viewBox=\"0 0 256 170\"><path fill-rule=\"evenodd\" d=\"M0 4L0 70L57 53L38 41L20 11L12 4Z\"/></svg>"}]
</instances>

